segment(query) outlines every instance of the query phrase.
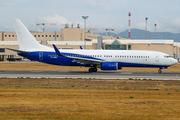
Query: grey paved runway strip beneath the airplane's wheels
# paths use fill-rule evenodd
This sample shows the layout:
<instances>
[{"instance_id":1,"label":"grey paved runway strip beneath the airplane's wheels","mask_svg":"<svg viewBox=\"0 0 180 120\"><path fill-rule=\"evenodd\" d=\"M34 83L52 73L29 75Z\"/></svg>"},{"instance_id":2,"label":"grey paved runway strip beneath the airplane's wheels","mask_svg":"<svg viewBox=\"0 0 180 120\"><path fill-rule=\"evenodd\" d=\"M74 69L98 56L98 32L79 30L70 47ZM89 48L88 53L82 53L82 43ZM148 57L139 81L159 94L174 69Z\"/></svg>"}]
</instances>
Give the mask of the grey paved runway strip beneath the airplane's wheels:
<instances>
[{"instance_id":1,"label":"grey paved runway strip beneath the airplane's wheels","mask_svg":"<svg viewBox=\"0 0 180 120\"><path fill-rule=\"evenodd\" d=\"M87 79L147 79L147 80L180 80L176 72L123 72L123 71L19 71L0 70L0 77L18 78L87 78Z\"/></svg>"}]
</instances>

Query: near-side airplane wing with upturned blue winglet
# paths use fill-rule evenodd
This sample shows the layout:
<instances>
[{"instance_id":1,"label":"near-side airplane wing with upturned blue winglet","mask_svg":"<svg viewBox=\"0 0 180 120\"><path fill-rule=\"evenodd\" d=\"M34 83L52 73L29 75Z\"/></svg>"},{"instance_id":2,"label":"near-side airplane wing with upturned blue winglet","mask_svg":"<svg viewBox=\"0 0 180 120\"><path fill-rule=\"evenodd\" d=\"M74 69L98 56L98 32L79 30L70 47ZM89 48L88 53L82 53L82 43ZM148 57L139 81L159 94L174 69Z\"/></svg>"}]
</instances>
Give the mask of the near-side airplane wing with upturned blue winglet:
<instances>
[{"instance_id":1,"label":"near-side airplane wing with upturned blue winglet","mask_svg":"<svg viewBox=\"0 0 180 120\"><path fill-rule=\"evenodd\" d=\"M81 63L81 64L100 64L101 62L103 62L102 60L99 59L92 59L92 58L83 58L83 57L73 57L73 56L66 56L63 55L58 49L57 47L53 44L54 50L56 52L56 54L58 56L62 56L62 57L67 57L67 58L72 58L74 59L73 62L77 62L77 63Z\"/></svg>"}]
</instances>

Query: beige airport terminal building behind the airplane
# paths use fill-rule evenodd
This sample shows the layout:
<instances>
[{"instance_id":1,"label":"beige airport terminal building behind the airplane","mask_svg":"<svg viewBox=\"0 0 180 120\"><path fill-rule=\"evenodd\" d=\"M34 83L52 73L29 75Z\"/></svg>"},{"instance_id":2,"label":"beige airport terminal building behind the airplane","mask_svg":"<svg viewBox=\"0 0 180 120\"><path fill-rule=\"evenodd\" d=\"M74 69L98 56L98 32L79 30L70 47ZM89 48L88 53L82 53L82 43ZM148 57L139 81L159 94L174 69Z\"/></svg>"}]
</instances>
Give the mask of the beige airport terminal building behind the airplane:
<instances>
[{"instance_id":1,"label":"beige airport terminal building behind the airplane","mask_svg":"<svg viewBox=\"0 0 180 120\"><path fill-rule=\"evenodd\" d=\"M107 50L152 50L180 58L180 43L174 40L135 40L101 36L81 28L63 28L60 32L31 32L35 39L46 46L55 44L62 49L107 49ZM22 60L16 52L5 48L19 49L15 32L0 32L0 60Z\"/></svg>"}]
</instances>

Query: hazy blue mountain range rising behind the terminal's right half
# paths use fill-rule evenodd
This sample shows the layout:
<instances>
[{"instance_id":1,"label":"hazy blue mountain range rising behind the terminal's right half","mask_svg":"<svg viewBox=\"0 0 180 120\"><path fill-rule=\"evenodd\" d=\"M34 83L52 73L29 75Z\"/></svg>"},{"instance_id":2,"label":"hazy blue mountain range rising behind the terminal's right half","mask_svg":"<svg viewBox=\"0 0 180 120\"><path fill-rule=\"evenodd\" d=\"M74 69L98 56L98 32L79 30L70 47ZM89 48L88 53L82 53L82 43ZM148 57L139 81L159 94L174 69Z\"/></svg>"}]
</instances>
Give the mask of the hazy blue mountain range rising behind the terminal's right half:
<instances>
[{"instance_id":1,"label":"hazy blue mountain range rising behind the terminal's right half","mask_svg":"<svg viewBox=\"0 0 180 120\"><path fill-rule=\"evenodd\" d=\"M98 33L100 35L106 35L106 33ZM108 32L108 36L113 37L128 37L128 30L114 34ZM145 30L131 29L131 39L145 39ZM147 31L147 39L154 39L154 32ZM173 39L175 42L180 42L180 33L170 33L170 32L156 32L156 39Z\"/></svg>"}]
</instances>

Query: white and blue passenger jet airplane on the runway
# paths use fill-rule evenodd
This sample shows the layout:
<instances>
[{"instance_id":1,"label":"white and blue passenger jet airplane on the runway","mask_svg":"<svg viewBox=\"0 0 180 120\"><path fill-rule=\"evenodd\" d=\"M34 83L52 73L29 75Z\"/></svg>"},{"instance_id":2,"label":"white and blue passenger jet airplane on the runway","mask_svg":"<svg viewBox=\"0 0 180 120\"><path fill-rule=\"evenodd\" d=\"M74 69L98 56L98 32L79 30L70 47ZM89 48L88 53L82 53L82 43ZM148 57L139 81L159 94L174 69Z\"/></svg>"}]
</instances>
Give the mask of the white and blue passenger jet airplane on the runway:
<instances>
[{"instance_id":1,"label":"white and blue passenger jet airplane on the runway","mask_svg":"<svg viewBox=\"0 0 180 120\"><path fill-rule=\"evenodd\" d=\"M178 61L166 53L146 50L87 50L87 49L58 49L41 45L24 24L14 20L15 31L19 43L18 55L33 61L60 66L89 67L89 72L101 70L120 70L122 67L153 67L162 69L176 64Z\"/></svg>"}]
</instances>

